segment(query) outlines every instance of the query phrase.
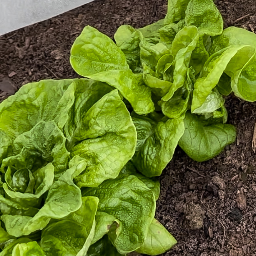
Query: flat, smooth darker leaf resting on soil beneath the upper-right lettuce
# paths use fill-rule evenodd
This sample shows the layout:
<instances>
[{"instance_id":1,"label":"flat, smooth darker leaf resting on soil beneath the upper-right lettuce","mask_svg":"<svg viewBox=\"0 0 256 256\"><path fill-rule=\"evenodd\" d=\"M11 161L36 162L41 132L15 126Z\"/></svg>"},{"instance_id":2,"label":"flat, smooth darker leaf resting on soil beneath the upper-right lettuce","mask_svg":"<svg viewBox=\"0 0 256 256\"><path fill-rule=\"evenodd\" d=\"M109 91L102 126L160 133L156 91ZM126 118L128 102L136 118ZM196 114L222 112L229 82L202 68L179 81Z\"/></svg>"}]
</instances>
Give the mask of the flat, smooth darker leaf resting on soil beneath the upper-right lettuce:
<instances>
[{"instance_id":1,"label":"flat, smooth darker leaf resting on soil beneath the upper-right lettuce","mask_svg":"<svg viewBox=\"0 0 256 256\"><path fill-rule=\"evenodd\" d=\"M225 146L236 139L236 130L233 125L211 124L188 112L184 124L185 132L179 141L179 146L198 162L218 155Z\"/></svg>"}]
</instances>

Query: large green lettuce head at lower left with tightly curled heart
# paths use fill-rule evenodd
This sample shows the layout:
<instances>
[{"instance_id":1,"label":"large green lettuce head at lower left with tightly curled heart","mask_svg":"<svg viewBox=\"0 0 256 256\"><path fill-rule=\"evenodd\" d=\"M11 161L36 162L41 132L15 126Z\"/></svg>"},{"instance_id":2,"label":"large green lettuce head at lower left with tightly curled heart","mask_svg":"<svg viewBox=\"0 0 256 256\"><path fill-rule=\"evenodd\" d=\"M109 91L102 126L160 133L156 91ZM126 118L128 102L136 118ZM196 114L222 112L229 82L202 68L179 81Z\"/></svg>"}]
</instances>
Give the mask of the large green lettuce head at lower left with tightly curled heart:
<instances>
[{"instance_id":1,"label":"large green lettuce head at lower left with tightly curled heart","mask_svg":"<svg viewBox=\"0 0 256 256\"><path fill-rule=\"evenodd\" d=\"M0 134L0 255L93 255L102 244L119 255L152 236L160 186L128 162L137 132L115 88L24 85L0 104ZM176 240L155 225L165 232L161 253Z\"/></svg>"}]
</instances>

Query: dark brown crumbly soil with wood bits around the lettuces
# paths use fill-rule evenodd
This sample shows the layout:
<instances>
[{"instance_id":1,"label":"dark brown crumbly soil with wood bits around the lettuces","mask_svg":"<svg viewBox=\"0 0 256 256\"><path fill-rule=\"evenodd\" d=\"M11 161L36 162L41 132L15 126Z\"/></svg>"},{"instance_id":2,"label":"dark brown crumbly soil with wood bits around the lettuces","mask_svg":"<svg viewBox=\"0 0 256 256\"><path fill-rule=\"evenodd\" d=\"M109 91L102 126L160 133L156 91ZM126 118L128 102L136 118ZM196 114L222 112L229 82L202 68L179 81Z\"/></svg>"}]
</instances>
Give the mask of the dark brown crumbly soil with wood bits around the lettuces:
<instances>
[{"instance_id":1,"label":"dark brown crumbly soil with wood bits around the lettuces","mask_svg":"<svg viewBox=\"0 0 256 256\"><path fill-rule=\"evenodd\" d=\"M96 0L0 37L0 101L31 81L78 77L69 51L85 25L113 38L122 24L139 28L163 18L166 4ZM216 5L225 27L256 31L255 0L216 0ZM236 142L203 163L177 148L160 177L156 218L178 240L165 256L256 256L256 103L231 95L226 107L228 122L237 129Z\"/></svg>"}]
</instances>

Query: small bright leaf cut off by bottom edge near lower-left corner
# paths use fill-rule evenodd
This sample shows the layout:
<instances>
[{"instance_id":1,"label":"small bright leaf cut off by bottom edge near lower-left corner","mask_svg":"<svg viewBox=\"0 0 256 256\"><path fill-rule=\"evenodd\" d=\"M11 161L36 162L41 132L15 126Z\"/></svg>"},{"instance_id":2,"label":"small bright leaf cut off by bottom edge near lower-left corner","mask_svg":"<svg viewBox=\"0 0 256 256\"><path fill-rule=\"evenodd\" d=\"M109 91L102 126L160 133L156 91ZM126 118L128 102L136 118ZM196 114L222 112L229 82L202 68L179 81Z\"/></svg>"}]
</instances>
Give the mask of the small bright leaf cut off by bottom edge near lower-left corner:
<instances>
[{"instance_id":1,"label":"small bright leaf cut off by bottom edge near lower-left corner","mask_svg":"<svg viewBox=\"0 0 256 256\"><path fill-rule=\"evenodd\" d=\"M45 256L36 241L16 244L12 251L12 256Z\"/></svg>"}]
</instances>

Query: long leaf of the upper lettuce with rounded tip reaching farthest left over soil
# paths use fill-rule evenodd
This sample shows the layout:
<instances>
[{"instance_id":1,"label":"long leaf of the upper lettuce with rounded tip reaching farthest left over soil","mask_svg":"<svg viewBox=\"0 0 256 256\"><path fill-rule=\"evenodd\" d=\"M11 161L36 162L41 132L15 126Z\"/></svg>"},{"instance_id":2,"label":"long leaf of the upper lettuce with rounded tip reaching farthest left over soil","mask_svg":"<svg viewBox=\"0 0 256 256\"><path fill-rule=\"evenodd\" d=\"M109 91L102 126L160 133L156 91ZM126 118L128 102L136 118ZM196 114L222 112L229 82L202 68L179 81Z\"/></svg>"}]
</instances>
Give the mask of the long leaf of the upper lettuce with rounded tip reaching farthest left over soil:
<instances>
[{"instance_id":1,"label":"long leaf of the upper lettuce with rounded tip reaching farthest left over soil","mask_svg":"<svg viewBox=\"0 0 256 256\"><path fill-rule=\"evenodd\" d=\"M95 28L86 26L76 38L70 63L79 75L117 88L139 115L154 110L151 91L143 83L142 76L132 73L121 49Z\"/></svg>"}]
</instances>

